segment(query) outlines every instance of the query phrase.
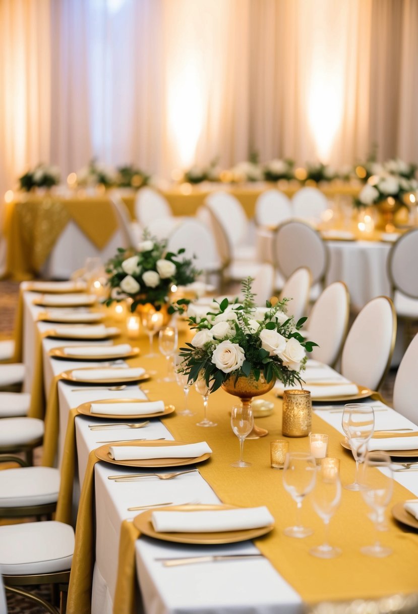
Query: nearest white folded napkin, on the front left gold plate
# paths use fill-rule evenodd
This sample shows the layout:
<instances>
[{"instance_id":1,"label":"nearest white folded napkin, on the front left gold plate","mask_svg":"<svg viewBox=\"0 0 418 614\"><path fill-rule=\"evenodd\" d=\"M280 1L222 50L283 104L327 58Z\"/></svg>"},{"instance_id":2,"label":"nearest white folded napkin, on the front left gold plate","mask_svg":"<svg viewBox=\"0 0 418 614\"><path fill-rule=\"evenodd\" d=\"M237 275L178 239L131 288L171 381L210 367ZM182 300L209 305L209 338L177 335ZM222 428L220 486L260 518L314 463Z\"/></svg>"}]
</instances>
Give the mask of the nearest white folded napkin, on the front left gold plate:
<instances>
[{"instance_id":1,"label":"nearest white folded napkin, on the front left gold plate","mask_svg":"<svg viewBox=\"0 0 418 614\"><path fill-rule=\"evenodd\" d=\"M258 529L274 523L267 507L238 510L153 511L151 522L158 532L214 533Z\"/></svg>"}]
</instances>

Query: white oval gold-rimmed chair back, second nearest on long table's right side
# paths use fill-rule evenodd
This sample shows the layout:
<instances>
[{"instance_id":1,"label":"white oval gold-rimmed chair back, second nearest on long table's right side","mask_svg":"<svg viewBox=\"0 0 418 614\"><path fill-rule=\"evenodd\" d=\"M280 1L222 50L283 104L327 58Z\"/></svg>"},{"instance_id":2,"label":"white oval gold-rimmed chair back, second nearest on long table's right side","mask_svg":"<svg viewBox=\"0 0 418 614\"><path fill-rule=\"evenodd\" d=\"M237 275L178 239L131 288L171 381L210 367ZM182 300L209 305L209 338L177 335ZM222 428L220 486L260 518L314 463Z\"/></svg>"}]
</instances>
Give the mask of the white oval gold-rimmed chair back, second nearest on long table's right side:
<instances>
[{"instance_id":1,"label":"white oval gold-rimmed chair back, second nearest on long table's right side","mask_svg":"<svg viewBox=\"0 0 418 614\"><path fill-rule=\"evenodd\" d=\"M378 391L390 359L397 316L389 297L369 301L355 318L343 346L341 373L356 384Z\"/></svg>"}]
</instances>

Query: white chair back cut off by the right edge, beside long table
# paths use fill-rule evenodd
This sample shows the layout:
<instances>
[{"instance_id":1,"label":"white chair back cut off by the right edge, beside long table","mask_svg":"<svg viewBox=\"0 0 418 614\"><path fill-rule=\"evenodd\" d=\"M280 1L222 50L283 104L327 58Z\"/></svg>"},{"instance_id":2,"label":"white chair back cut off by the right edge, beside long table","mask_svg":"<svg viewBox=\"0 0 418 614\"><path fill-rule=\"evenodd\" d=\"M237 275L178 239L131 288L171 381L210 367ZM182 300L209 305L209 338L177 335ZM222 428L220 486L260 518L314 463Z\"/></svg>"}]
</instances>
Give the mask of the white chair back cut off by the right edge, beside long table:
<instances>
[{"instance_id":1,"label":"white chair back cut off by the right edge, beside long table","mask_svg":"<svg viewBox=\"0 0 418 614\"><path fill-rule=\"evenodd\" d=\"M393 387L393 409L417 423L418 419L418 334L414 336L398 367Z\"/></svg>"}]
</instances>

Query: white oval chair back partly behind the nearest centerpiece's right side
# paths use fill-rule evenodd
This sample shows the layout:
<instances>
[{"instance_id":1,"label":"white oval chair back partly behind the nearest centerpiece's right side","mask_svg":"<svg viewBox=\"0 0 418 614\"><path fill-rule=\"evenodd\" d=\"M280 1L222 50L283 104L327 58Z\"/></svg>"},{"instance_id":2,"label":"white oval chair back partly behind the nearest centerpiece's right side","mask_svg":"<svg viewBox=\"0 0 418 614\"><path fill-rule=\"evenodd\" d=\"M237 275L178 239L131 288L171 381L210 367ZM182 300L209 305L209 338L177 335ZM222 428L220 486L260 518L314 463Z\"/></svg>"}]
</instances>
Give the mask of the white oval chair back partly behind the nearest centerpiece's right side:
<instances>
[{"instance_id":1,"label":"white oval chair back partly behind the nearest centerpiece's right side","mask_svg":"<svg viewBox=\"0 0 418 614\"><path fill-rule=\"evenodd\" d=\"M335 281L317 298L303 332L308 340L318 344L310 358L330 367L335 365L346 338L349 314L348 288L342 281Z\"/></svg>"}]
</instances>

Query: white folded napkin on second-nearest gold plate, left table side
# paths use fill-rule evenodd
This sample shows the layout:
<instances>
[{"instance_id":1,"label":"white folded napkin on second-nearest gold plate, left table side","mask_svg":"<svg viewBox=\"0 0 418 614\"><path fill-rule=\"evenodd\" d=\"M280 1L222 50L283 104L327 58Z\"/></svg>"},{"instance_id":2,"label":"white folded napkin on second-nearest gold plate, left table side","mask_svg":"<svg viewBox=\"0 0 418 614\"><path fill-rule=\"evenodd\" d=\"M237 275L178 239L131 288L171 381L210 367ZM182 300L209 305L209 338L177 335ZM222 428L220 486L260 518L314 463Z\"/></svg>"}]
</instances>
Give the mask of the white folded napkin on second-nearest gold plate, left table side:
<instances>
[{"instance_id":1,"label":"white folded napkin on second-nearest gold plate, left table side","mask_svg":"<svg viewBox=\"0 0 418 614\"><path fill-rule=\"evenodd\" d=\"M196 458L210 454L206 441L183 446L110 446L109 456L115 461L144 461L146 459Z\"/></svg>"}]
</instances>

